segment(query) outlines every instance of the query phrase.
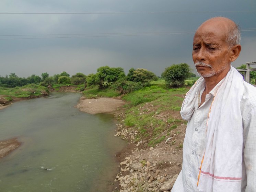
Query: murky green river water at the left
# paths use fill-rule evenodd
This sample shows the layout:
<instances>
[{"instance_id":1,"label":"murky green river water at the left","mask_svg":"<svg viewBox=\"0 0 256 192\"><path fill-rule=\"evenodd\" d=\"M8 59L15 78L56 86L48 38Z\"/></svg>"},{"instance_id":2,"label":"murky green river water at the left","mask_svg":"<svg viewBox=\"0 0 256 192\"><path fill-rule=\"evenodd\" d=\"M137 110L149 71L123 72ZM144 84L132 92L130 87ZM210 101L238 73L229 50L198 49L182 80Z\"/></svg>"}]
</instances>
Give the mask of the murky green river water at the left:
<instances>
[{"instance_id":1,"label":"murky green river water at the left","mask_svg":"<svg viewBox=\"0 0 256 192\"><path fill-rule=\"evenodd\" d=\"M0 110L0 140L22 145L0 159L1 192L107 192L118 171L113 115L74 106L81 94L51 93ZM45 170L47 168L48 170Z\"/></svg>"}]
</instances>

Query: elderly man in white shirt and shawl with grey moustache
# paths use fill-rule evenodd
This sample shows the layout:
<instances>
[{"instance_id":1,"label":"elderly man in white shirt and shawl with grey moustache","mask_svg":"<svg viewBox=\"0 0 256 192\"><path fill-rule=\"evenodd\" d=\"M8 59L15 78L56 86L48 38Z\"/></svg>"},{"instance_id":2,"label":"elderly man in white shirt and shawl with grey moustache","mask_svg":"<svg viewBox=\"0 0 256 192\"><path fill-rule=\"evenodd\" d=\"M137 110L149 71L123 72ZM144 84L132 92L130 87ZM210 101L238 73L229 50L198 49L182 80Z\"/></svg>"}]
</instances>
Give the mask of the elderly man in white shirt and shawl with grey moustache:
<instances>
[{"instance_id":1,"label":"elderly man in white shirt and shawl with grey moustache","mask_svg":"<svg viewBox=\"0 0 256 192\"><path fill-rule=\"evenodd\" d=\"M240 51L230 19L209 19L195 33L192 56L201 77L182 104L183 168L172 192L256 191L256 88L231 66Z\"/></svg>"}]
</instances>

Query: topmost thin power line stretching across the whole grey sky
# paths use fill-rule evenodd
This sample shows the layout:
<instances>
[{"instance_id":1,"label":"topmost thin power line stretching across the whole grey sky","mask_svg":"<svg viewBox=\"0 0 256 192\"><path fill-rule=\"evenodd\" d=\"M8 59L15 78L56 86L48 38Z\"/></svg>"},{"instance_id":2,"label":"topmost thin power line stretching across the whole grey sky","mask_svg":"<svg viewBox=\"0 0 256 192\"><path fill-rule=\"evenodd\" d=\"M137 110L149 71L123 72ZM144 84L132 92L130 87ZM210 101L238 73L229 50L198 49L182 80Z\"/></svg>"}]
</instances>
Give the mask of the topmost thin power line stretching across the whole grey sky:
<instances>
[{"instance_id":1,"label":"topmost thin power line stretching across the whole grey sky","mask_svg":"<svg viewBox=\"0 0 256 192\"><path fill-rule=\"evenodd\" d=\"M245 12L256 12L256 10L252 11L170 11L170 12L71 12L71 13L0 13L0 14L170 14L170 13L245 13Z\"/></svg>"}]
</instances>

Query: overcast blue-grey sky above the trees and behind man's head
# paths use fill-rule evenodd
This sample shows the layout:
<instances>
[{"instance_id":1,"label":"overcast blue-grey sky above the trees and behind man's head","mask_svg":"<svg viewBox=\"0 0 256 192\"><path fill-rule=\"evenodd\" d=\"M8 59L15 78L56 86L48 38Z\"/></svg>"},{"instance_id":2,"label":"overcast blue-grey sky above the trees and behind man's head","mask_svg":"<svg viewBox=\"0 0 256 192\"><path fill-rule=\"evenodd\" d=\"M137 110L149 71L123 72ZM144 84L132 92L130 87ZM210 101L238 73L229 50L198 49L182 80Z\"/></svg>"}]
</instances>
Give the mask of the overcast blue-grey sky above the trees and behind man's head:
<instances>
[{"instance_id":1,"label":"overcast blue-grey sky above the trees and behind man's head","mask_svg":"<svg viewBox=\"0 0 256 192\"><path fill-rule=\"evenodd\" d=\"M233 66L256 61L255 0L1 0L0 13L1 76L88 75L105 65L160 76L183 62L195 70L194 32L214 16L242 29L242 52Z\"/></svg>"}]
</instances>

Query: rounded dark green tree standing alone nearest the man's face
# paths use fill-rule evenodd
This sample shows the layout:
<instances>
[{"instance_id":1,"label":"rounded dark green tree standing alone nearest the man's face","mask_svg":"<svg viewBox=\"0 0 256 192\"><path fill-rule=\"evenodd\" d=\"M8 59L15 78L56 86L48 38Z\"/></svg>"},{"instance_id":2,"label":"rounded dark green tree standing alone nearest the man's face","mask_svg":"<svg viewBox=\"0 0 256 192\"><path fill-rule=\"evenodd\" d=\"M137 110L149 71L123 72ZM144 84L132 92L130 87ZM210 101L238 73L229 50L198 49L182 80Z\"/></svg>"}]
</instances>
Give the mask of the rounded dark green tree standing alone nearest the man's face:
<instances>
[{"instance_id":1,"label":"rounded dark green tree standing alone nearest the man's face","mask_svg":"<svg viewBox=\"0 0 256 192\"><path fill-rule=\"evenodd\" d=\"M167 87L180 87L184 85L191 70L192 69L186 63L173 64L170 67L165 68L162 77L164 78Z\"/></svg>"}]
</instances>

